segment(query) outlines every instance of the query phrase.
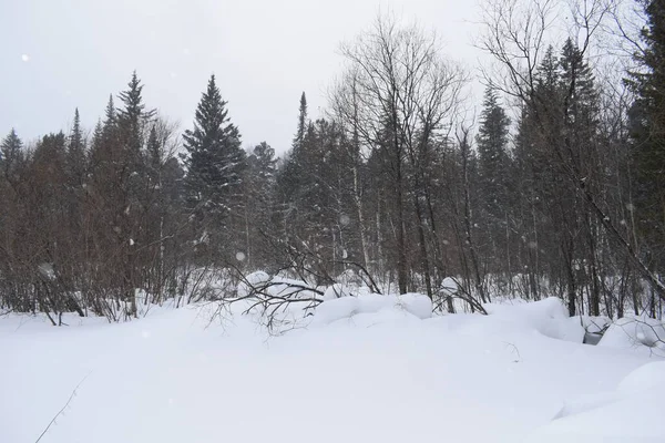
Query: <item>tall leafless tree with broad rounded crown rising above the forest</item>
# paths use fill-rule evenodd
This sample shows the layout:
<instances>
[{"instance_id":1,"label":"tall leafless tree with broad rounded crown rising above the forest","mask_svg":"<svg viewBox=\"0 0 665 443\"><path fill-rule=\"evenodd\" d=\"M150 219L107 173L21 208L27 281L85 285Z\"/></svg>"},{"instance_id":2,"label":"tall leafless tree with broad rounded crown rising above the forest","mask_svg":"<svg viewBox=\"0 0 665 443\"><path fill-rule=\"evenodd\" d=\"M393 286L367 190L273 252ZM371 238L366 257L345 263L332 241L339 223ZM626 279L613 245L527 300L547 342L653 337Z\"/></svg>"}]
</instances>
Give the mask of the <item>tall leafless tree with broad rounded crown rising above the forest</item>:
<instances>
[{"instance_id":1,"label":"tall leafless tree with broad rounded crown rising above the forest","mask_svg":"<svg viewBox=\"0 0 665 443\"><path fill-rule=\"evenodd\" d=\"M382 152L383 173L393 183L390 209L399 290L406 292L408 287L407 205L411 197L420 270L432 297L421 198L427 187L423 166L432 143L450 127L466 74L441 55L436 34L416 24L403 27L391 16L378 17L369 31L342 45L341 53L350 84L340 87L334 102L337 115L351 127L358 143Z\"/></svg>"}]
</instances>

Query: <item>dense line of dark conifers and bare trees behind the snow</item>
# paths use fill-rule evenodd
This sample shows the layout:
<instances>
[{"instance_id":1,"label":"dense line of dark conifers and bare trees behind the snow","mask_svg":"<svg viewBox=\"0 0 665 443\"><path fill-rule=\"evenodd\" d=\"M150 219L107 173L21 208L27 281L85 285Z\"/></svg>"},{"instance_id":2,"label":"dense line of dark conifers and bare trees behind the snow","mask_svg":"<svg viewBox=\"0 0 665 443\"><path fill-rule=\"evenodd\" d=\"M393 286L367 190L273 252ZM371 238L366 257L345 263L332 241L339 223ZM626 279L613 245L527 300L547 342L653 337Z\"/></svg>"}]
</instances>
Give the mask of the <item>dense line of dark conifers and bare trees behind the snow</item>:
<instances>
[{"instance_id":1,"label":"dense line of dark conifers and bare trees behind the snow","mask_svg":"<svg viewBox=\"0 0 665 443\"><path fill-rule=\"evenodd\" d=\"M382 16L342 45L325 116L303 93L280 158L242 147L214 75L182 137L135 72L91 134L78 111L29 146L12 130L0 307L120 320L140 301L233 297L262 269L313 290L351 276L420 291L448 311L559 296L571 315L661 316L665 1L640 1L634 40L614 2L570 6L574 25L549 44L560 3L484 2L478 45L494 63L477 123L469 73L433 33ZM592 50L617 30L633 63L598 80Z\"/></svg>"}]
</instances>

